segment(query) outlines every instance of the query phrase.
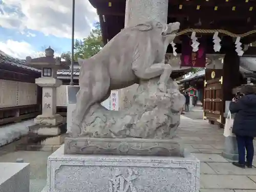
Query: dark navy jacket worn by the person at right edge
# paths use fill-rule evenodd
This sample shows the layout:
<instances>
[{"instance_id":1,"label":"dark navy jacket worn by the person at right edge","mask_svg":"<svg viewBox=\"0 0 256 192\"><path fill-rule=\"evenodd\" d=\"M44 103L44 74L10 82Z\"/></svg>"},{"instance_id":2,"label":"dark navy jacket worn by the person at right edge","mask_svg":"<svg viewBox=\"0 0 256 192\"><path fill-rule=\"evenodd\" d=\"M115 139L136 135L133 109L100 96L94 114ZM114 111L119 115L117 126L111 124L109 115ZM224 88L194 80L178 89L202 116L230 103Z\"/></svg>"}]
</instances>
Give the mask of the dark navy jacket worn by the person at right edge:
<instances>
[{"instance_id":1,"label":"dark navy jacket worn by the person at right edge","mask_svg":"<svg viewBox=\"0 0 256 192\"><path fill-rule=\"evenodd\" d=\"M229 105L234 117L232 132L238 136L256 137L256 95L245 95Z\"/></svg>"}]
</instances>

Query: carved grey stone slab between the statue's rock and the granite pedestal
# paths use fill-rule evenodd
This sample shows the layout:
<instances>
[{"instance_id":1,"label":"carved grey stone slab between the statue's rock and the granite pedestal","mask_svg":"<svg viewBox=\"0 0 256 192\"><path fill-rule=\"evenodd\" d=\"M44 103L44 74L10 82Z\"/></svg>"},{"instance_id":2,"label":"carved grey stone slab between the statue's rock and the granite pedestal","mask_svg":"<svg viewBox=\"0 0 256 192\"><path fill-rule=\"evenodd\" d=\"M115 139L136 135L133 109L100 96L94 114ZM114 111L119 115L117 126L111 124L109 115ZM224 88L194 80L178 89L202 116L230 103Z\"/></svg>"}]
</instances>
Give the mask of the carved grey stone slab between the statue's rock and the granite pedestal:
<instances>
[{"instance_id":1,"label":"carved grey stone slab between the statue's rock and the granite pedestal","mask_svg":"<svg viewBox=\"0 0 256 192\"><path fill-rule=\"evenodd\" d=\"M178 137L173 139L68 137L65 138L65 154L184 157L184 147Z\"/></svg>"}]
</instances>

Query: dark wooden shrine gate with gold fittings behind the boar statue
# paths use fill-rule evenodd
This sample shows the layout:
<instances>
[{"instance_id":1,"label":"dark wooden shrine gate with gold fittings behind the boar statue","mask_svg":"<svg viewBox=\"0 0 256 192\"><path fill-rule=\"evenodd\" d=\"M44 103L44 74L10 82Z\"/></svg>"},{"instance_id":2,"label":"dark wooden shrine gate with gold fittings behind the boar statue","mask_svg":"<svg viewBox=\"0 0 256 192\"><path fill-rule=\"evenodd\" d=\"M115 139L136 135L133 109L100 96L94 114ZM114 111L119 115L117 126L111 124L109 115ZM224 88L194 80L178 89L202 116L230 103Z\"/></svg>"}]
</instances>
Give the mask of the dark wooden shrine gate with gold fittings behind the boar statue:
<instances>
[{"instance_id":1,"label":"dark wooden shrine gate with gold fittings behind the boar statue","mask_svg":"<svg viewBox=\"0 0 256 192\"><path fill-rule=\"evenodd\" d=\"M106 44L124 28L126 1L89 1L97 9L103 41ZM191 33L196 32L196 37L204 46L206 54L223 55L221 68L207 68L204 81L204 118L223 124L225 101L233 97L232 88L241 84L238 78L240 76L239 49L244 52L244 55L256 54L255 49L248 47L256 41L256 1L169 0L167 23L172 22L181 24L174 41L177 53L182 55L183 43L191 37ZM216 42L213 42L216 32L221 40L221 49L218 52L214 49ZM237 41L236 44L235 41ZM169 46L167 54L171 53L173 48ZM191 62L187 67L198 67L195 63ZM172 78L179 77L184 72L187 71L182 71L181 68L180 71L172 74Z\"/></svg>"}]
</instances>

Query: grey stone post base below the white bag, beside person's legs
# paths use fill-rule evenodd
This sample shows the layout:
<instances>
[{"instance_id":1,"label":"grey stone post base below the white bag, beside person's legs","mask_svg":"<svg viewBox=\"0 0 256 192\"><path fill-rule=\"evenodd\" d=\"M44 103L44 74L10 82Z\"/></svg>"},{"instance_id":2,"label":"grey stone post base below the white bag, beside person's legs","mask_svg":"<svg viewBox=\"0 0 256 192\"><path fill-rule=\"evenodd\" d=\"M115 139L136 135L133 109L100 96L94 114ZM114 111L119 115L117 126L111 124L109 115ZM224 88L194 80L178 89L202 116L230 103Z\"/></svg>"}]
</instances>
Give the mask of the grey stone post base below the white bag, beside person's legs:
<instances>
[{"instance_id":1,"label":"grey stone post base below the white bag, beside person's legs","mask_svg":"<svg viewBox=\"0 0 256 192\"><path fill-rule=\"evenodd\" d=\"M236 137L225 137L222 156L230 161L238 161L238 144Z\"/></svg>"}]
</instances>

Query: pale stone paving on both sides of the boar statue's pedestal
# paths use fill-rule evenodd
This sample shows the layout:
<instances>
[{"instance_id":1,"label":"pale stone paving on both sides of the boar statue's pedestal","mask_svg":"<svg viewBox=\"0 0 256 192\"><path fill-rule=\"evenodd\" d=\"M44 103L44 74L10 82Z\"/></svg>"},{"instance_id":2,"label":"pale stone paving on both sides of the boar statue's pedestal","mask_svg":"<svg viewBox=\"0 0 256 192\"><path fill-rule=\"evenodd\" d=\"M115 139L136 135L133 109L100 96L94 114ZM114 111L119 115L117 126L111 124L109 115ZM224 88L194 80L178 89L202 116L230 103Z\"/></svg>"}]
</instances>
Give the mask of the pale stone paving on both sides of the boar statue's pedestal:
<instances>
[{"instance_id":1,"label":"pale stone paving on both sides of the boar statue's pedestal","mask_svg":"<svg viewBox=\"0 0 256 192\"><path fill-rule=\"evenodd\" d=\"M190 117L198 116L193 113L199 112L187 114ZM181 116L178 136L184 141L187 150L201 161L200 191L256 192L256 168L235 167L221 156L224 146L223 129L217 125L210 125L206 120L197 118L193 120L187 117L187 114ZM23 158L25 162L29 162L30 192L40 192L46 185L47 157L50 154L50 152L18 151L2 156L0 154L0 162L15 162L17 158Z\"/></svg>"}]
</instances>

